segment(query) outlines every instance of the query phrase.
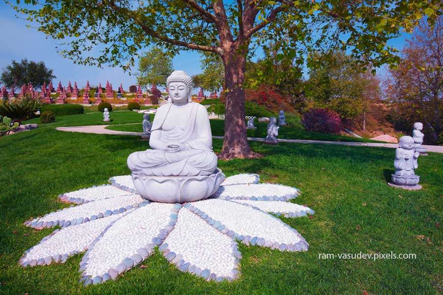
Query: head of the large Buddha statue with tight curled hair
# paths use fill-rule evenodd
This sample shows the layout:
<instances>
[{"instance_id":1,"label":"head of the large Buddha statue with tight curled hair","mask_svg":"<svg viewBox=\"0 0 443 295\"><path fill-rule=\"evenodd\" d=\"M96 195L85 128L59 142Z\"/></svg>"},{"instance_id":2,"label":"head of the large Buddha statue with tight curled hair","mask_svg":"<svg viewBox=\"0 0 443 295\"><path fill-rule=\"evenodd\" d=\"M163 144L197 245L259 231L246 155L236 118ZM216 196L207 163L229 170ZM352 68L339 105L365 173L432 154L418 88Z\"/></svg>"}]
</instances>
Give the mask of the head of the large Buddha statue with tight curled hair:
<instances>
[{"instance_id":1,"label":"head of the large Buddha statue with tight curled hair","mask_svg":"<svg viewBox=\"0 0 443 295\"><path fill-rule=\"evenodd\" d=\"M184 71L173 71L166 80L173 103L191 102L192 78Z\"/></svg>"}]
</instances>

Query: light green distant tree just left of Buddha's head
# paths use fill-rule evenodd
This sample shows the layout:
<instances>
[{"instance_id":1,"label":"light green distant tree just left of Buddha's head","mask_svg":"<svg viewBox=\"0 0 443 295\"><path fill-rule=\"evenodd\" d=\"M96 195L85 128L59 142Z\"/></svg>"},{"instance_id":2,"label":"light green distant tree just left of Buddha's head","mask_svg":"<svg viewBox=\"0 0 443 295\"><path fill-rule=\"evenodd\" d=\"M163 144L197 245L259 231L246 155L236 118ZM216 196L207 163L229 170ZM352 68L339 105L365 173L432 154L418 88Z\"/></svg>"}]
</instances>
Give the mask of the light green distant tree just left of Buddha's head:
<instances>
[{"instance_id":1,"label":"light green distant tree just left of Buddha's head","mask_svg":"<svg viewBox=\"0 0 443 295\"><path fill-rule=\"evenodd\" d=\"M172 71L172 57L160 48L153 47L140 57L136 74L137 83L146 89L153 84L166 86L166 79Z\"/></svg>"}]
</instances>

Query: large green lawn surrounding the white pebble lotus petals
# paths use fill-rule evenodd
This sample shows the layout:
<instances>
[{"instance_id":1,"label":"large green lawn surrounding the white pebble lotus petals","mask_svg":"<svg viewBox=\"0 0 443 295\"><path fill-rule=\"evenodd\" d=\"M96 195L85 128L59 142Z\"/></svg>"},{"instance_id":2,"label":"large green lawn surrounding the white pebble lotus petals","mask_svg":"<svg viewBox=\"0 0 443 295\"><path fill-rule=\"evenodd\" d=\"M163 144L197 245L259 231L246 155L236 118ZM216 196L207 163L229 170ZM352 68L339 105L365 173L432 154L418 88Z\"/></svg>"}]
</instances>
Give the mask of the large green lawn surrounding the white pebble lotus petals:
<instances>
[{"instance_id":1,"label":"large green lawn surrounding the white pebble lotus petals","mask_svg":"<svg viewBox=\"0 0 443 295\"><path fill-rule=\"evenodd\" d=\"M58 117L55 123L0 138L1 294L438 294L442 290L443 154L419 158L421 191L386 184L393 172L389 148L252 142L258 159L219 161L227 175L258 173L262 181L301 189L293 202L313 218L281 219L310 244L290 253L239 245L241 276L206 282L182 273L157 252L116 281L82 287L82 254L65 264L23 269L23 252L54 229L36 231L25 220L67 207L64 192L129 174L129 153L147 148L132 136L56 131L56 126L101 124L101 114ZM141 120L111 113L112 123ZM38 119L33 119L38 121ZM28 123L28 122L27 122ZM283 129L284 130L284 129ZM214 140L219 152L222 142ZM415 253L409 260L321 260L321 253Z\"/></svg>"}]
</instances>

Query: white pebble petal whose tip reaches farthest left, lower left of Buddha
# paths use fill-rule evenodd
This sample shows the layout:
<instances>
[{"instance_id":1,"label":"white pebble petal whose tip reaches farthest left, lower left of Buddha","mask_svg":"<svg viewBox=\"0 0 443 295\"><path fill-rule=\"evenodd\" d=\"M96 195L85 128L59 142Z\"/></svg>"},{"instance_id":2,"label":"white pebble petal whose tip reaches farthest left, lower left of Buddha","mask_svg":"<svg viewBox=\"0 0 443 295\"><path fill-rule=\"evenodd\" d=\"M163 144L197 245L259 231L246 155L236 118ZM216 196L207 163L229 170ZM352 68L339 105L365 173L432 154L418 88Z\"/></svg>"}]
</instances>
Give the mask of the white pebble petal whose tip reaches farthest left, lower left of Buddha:
<instances>
[{"instance_id":1,"label":"white pebble petal whose tip reaches farthest left, lower left of Buddha","mask_svg":"<svg viewBox=\"0 0 443 295\"><path fill-rule=\"evenodd\" d=\"M46 241L35 245L23 259L29 262L33 259L55 257L71 253L72 251L83 252L100 235L103 230L123 214L116 214L108 218L101 218L91 222L74 225L62 229Z\"/></svg>"}]
</instances>

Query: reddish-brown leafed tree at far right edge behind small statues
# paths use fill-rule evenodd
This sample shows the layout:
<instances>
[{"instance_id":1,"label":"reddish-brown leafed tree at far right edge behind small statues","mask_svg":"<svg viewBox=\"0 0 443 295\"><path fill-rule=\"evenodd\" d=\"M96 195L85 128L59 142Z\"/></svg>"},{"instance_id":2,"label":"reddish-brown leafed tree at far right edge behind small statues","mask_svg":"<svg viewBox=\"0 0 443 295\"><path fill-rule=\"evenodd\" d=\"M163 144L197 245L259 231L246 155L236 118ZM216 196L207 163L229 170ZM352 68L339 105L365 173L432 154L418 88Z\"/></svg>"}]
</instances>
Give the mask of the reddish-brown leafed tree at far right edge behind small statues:
<instances>
[{"instance_id":1,"label":"reddish-brown leafed tree at far right edge behind small statues","mask_svg":"<svg viewBox=\"0 0 443 295\"><path fill-rule=\"evenodd\" d=\"M389 118L410 133L415 121L423 123L425 141L434 143L443 132L443 17L434 28L424 21L414 30L398 67L390 69L387 97Z\"/></svg>"}]
</instances>

